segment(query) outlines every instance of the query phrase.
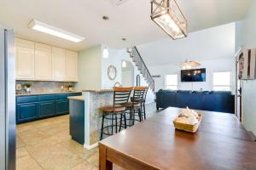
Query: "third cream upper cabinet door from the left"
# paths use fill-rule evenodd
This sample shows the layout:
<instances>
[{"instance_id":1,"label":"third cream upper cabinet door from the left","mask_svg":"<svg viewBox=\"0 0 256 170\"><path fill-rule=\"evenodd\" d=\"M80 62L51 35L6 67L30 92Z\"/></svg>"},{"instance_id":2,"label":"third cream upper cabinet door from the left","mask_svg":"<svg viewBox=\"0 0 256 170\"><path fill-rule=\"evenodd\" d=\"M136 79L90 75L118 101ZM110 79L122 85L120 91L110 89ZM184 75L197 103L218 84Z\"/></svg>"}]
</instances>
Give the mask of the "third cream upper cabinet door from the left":
<instances>
[{"instance_id":1,"label":"third cream upper cabinet door from the left","mask_svg":"<svg viewBox=\"0 0 256 170\"><path fill-rule=\"evenodd\" d=\"M52 48L52 78L55 81L65 81L66 74L65 49Z\"/></svg>"}]
</instances>

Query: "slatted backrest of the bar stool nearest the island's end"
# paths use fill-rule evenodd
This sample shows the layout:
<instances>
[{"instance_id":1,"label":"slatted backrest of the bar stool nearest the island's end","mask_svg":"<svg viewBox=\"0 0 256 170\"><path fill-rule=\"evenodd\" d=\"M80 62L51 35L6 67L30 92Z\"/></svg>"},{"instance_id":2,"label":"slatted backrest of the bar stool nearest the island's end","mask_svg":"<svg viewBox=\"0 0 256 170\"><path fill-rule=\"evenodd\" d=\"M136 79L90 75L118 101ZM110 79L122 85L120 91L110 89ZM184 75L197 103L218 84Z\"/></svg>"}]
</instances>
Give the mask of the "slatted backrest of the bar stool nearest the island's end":
<instances>
[{"instance_id":1,"label":"slatted backrest of the bar stool nearest the island's end","mask_svg":"<svg viewBox=\"0 0 256 170\"><path fill-rule=\"evenodd\" d=\"M113 107L125 104L130 99L131 88L113 88Z\"/></svg>"}]
</instances>

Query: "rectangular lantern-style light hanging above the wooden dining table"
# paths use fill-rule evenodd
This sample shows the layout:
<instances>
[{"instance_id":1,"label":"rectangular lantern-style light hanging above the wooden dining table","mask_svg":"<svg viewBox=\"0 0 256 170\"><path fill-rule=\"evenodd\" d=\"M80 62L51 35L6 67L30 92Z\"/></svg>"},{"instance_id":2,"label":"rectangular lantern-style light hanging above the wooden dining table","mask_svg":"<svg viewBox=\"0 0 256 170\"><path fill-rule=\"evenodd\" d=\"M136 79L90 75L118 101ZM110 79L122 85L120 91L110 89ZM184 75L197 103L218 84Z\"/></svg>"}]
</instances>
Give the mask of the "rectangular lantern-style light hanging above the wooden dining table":
<instances>
[{"instance_id":1,"label":"rectangular lantern-style light hanging above the wooden dining table","mask_svg":"<svg viewBox=\"0 0 256 170\"><path fill-rule=\"evenodd\" d=\"M172 39L187 37L188 22L175 0L152 0L150 17Z\"/></svg>"}]
</instances>

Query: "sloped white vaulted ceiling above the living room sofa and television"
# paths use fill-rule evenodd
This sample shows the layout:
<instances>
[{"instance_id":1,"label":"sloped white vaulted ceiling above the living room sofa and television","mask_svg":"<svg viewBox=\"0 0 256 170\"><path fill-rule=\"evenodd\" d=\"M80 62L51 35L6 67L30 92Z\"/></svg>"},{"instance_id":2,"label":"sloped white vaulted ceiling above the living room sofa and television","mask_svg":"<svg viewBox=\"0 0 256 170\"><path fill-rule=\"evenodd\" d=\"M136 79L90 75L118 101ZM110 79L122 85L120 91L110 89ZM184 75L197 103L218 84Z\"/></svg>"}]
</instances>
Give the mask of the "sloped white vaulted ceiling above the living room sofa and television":
<instances>
[{"instance_id":1,"label":"sloped white vaulted ceiling above the living room sofa and television","mask_svg":"<svg viewBox=\"0 0 256 170\"><path fill-rule=\"evenodd\" d=\"M189 37L172 41L166 38L137 46L146 65L170 65L185 59L196 61L234 57L236 24L195 31Z\"/></svg>"}]
</instances>

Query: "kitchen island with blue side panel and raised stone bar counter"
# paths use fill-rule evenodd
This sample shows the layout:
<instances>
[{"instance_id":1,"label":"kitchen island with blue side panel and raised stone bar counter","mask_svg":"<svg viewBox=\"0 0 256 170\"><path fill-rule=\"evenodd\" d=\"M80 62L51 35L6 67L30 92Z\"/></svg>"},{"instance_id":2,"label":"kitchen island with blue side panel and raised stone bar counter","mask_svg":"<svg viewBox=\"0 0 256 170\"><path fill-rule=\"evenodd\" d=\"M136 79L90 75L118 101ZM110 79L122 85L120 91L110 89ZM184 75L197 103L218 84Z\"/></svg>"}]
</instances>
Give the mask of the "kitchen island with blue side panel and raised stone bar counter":
<instances>
[{"instance_id":1,"label":"kitchen island with blue side panel and raised stone bar counter","mask_svg":"<svg viewBox=\"0 0 256 170\"><path fill-rule=\"evenodd\" d=\"M81 96L68 97L72 139L90 150L100 140L103 105L113 104L113 89L82 90Z\"/></svg>"}]
</instances>

